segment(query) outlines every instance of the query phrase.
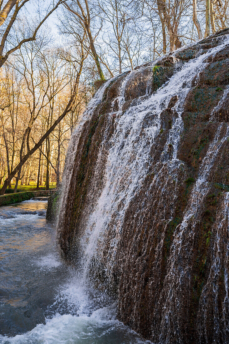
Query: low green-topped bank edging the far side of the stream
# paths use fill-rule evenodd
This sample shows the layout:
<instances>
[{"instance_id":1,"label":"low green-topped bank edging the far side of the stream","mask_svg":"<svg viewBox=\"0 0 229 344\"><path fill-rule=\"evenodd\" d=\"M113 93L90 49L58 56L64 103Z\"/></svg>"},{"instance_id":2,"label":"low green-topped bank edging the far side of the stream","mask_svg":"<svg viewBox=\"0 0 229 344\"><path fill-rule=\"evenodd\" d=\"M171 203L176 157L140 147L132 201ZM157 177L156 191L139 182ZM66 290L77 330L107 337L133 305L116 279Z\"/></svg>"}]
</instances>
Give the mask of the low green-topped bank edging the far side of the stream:
<instances>
[{"instance_id":1,"label":"low green-topped bank edging the far side of the stream","mask_svg":"<svg viewBox=\"0 0 229 344\"><path fill-rule=\"evenodd\" d=\"M34 197L49 197L56 190L24 191L0 196L0 206L30 200Z\"/></svg>"}]
</instances>

